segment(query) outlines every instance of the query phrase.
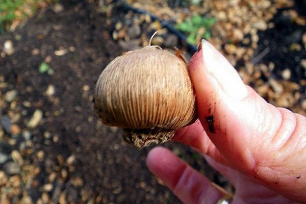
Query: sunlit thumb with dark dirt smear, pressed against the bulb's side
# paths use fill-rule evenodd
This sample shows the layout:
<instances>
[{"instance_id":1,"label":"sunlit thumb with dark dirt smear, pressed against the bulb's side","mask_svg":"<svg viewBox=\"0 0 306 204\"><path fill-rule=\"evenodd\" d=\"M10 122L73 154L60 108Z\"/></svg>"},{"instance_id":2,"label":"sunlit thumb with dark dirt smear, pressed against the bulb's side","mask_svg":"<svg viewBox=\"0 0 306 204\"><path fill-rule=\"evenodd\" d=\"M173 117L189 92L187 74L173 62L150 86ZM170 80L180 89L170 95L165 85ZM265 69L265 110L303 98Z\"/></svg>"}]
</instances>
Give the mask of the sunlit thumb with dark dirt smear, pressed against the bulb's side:
<instances>
[{"instance_id":1,"label":"sunlit thumb with dark dirt smear, pressed against the bulb's side","mask_svg":"<svg viewBox=\"0 0 306 204\"><path fill-rule=\"evenodd\" d=\"M289 179L296 192L305 188L306 167L296 161L296 155L306 159L305 117L268 104L208 41L192 57L189 72L199 119L228 163L282 192L288 186L278 186Z\"/></svg>"}]
</instances>

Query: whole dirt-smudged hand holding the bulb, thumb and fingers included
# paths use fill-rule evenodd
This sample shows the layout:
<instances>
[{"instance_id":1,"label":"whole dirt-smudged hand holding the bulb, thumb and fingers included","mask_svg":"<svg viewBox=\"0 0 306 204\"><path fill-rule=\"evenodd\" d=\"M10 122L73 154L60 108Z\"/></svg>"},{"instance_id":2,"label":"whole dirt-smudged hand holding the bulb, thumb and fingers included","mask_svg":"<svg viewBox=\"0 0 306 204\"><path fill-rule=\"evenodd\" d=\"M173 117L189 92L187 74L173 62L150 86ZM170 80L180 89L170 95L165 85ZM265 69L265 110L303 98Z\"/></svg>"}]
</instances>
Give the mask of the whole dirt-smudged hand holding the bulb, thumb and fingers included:
<instances>
[{"instance_id":1,"label":"whole dirt-smudged hand holding the bulb, thumb and fingers included","mask_svg":"<svg viewBox=\"0 0 306 204\"><path fill-rule=\"evenodd\" d=\"M234 185L231 203L306 203L306 118L267 103L208 41L189 73L199 120L174 141L201 152ZM184 203L216 203L220 193L171 151L153 148L147 166Z\"/></svg>"}]
</instances>

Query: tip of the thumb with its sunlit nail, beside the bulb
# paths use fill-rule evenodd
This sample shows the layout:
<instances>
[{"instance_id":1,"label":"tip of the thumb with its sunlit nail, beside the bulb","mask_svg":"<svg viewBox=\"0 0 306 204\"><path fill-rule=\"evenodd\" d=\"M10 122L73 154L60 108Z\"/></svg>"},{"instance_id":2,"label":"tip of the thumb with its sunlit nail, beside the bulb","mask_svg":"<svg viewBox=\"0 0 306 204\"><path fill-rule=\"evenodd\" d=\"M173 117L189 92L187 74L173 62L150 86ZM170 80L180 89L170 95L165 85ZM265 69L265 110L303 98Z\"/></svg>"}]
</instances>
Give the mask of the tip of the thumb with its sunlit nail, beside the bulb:
<instances>
[{"instance_id":1,"label":"tip of the thumb with its sunlit nail, beside the bulb","mask_svg":"<svg viewBox=\"0 0 306 204\"><path fill-rule=\"evenodd\" d=\"M197 95L213 91L241 99L248 93L236 69L206 40L192 56L189 72Z\"/></svg>"}]
</instances>

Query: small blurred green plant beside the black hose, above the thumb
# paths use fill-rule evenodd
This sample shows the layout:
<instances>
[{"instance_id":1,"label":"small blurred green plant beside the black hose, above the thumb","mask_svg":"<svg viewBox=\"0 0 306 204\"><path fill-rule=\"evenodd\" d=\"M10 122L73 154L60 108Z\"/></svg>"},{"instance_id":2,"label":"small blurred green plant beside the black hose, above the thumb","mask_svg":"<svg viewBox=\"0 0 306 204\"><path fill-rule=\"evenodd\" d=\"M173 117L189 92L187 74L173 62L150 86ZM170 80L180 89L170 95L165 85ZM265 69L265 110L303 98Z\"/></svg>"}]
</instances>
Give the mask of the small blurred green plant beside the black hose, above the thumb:
<instances>
[{"instance_id":1,"label":"small blurred green plant beside the black hose, above the thumb","mask_svg":"<svg viewBox=\"0 0 306 204\"><path fill-rule=\"evenodd\" d=\"M201 38L211 38L211 28L215 23L216 18L196 14L191 19L177 24L176 28L188 35L187 42L196 44Z\"/></svg>"}]
</instances>

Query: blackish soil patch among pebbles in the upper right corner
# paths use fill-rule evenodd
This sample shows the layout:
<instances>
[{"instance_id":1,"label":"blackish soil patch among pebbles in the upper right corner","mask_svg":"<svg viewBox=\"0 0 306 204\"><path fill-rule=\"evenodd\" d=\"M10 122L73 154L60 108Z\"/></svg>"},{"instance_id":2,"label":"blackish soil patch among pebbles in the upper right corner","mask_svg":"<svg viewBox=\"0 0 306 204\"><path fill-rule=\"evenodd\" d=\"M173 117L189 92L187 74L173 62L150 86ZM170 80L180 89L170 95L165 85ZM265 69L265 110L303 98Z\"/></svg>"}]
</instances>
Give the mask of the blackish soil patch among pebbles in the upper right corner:
<instances>
[{"instance_id":1,"label":"blackish soil patch among pebbles in the upper right corner","mask_svg":"<svg viewBox=\"0 0 306 204\"><path fill-rule=\"evenodd\" d=\"M273 62L276 69L272 71L272 74L277 79L282 79L282 71L290 68L290 80L299 82L306 79L306 69L300 63L306 58L306 49L302 46L301 50L289 50L289 47L293 43L303 44L302 35L306 33L306 27L293 23L290 17L283 15L283 11L289 9L294 9L300 16L306 17L305 0L296 0L293 8L279 9L271 21L275 24L275 28L259 32L259 48L255 55L269 47L270 52L259 63ZM305 87L302 87L301 92L304 91Z\"/></svg>"}]
</instances>

